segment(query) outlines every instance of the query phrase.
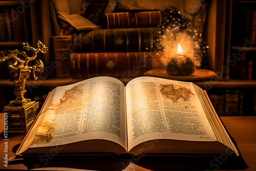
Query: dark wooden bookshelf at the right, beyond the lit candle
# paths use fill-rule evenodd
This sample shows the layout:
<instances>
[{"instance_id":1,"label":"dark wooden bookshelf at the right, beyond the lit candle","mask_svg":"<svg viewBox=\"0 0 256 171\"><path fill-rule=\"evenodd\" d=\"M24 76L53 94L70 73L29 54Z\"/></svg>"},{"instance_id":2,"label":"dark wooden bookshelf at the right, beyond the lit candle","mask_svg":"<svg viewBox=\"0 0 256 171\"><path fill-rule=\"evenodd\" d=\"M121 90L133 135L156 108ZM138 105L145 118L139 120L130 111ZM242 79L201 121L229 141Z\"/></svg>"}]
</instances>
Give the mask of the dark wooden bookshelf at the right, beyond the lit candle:
<instances>
[{"instance_id":1,"label":"dark wooden bookshelf at the right, beyond the lit candle","mask_svg":"<svg viewBox=\"0 0 256 171\"><path fill-rule=\"evenodd\" d=\"M211 22L214 18L214 24L211 22L209 24L214 27L215 32L214 36L210 35L212 30L208 28L208 41L211 45L208 56L215 57L212 60L212 70L219 72L224 68L225 72L217 83L213 82L212 90L208 91L209 96L217 109L218 106L222 106L224 112L217 112L222 113L222 116L231 113L225 111L228 110L228 105L232 105L236 109L231 115L255 115L256 80L253 73L256 69L256 47L251 45L248 40L252 38L251 31L256 29L256 27L252 29L250 23L251 11L256 10L256 1L212 1L211 5L209 18L211 18ZM212 11L216 11L216 13ZM222 16L218 16L218 12ZM255 36L253 38L252 40L255 41ZM220 46L217 47L217 44ZM253 62L250 70L247 65L248 59ZM251 77L249 78L249 76ZM230 96L230 94L232 95ZM224 98L222 104L220 104L220 98Z\"/></svg>"}]
</instances>

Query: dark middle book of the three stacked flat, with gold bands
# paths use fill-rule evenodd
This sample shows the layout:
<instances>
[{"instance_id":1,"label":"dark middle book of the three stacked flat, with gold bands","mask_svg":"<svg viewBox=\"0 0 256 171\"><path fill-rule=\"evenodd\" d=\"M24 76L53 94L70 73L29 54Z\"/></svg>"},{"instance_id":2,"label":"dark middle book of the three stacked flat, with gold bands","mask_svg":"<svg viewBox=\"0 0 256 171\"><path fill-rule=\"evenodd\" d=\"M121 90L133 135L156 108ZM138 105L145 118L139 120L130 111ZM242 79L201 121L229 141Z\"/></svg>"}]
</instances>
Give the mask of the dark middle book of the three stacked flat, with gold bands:
<instances>
[{"instance_id":1,"label":"dark middle book of the three stacked flat, with gold bands","mask_svg":"<svg viewBox=\"0 0 256 171\"><path fill-rule=\"evenodd\" d=\"M75 52L152 52L158 28L98 29L74 35Z\"/></svg>"}]
</instances>

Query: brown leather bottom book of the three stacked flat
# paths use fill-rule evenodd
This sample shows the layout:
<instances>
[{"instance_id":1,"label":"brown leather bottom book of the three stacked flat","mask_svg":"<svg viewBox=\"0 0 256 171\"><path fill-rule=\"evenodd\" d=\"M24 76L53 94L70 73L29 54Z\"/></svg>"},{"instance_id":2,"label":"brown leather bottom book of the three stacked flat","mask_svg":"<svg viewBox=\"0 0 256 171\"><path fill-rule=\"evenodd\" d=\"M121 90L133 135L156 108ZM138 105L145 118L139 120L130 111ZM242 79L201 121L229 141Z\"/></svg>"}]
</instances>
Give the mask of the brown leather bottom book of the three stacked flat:
<instances>
[{"instance_id":1,"label":"brown leather bottom book of the three stacked flat","mask_svg":"<svg viewBox=\"0 0 256 171\"><path fill-rule=\"evenodd\" d=\"M154 52L71 53L70 61L72 78L134 78L158 68L160 55Z\"/></svg>"}]
</instances>

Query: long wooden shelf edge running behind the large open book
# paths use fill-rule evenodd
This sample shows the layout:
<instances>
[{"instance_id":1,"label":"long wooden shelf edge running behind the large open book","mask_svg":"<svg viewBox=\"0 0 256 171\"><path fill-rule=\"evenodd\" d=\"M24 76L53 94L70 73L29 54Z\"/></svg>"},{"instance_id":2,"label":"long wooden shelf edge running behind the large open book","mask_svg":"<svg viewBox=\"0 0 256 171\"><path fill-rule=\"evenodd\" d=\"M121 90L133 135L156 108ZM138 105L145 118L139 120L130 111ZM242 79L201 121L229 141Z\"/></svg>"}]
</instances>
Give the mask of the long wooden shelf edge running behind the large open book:
<instances>
[{"instance_id":1,"label":"long wooden shelf edge running behind the large open book","mask_svg":"<svg viewBox=\"0 0 256 171\"><path fill-rule=\"evenodd\" d=\"M55 88L57 86L65 86L72 84L84 79L72 79L72 78L55 78L47 80L33 80L29 79L26 81L26 85L35 86L35 87L48 87ZM129 82L131 79L120 79L124 84ZM255 88L256 80L206 80L206 81L193 81L195 84L200 86L203 89L206 88ZM0 87L13 87L13 82L9 79L0 80Z\"/></svg>"}]
</instances>

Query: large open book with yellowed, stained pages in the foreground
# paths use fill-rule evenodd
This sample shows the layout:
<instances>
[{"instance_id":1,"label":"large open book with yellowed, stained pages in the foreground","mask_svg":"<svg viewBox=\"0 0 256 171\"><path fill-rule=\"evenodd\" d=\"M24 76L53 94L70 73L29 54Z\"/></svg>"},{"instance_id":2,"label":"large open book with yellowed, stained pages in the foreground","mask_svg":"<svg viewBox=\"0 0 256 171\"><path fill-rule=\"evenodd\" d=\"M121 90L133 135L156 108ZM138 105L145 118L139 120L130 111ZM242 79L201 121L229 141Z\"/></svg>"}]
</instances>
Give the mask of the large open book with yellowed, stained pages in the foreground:
<instances>
[{"instance_id":1,"label":"large open book with yellowed, stained pages in the foreground","mask_svg":"<svg viewBox=\"0 0 256 171\"><path fill-rule=\"evenodd\" d=\"M192 82L94 77L55 88L16 156L69 153L238 156L206 93Z\"/></svg>"}]
</instances>

